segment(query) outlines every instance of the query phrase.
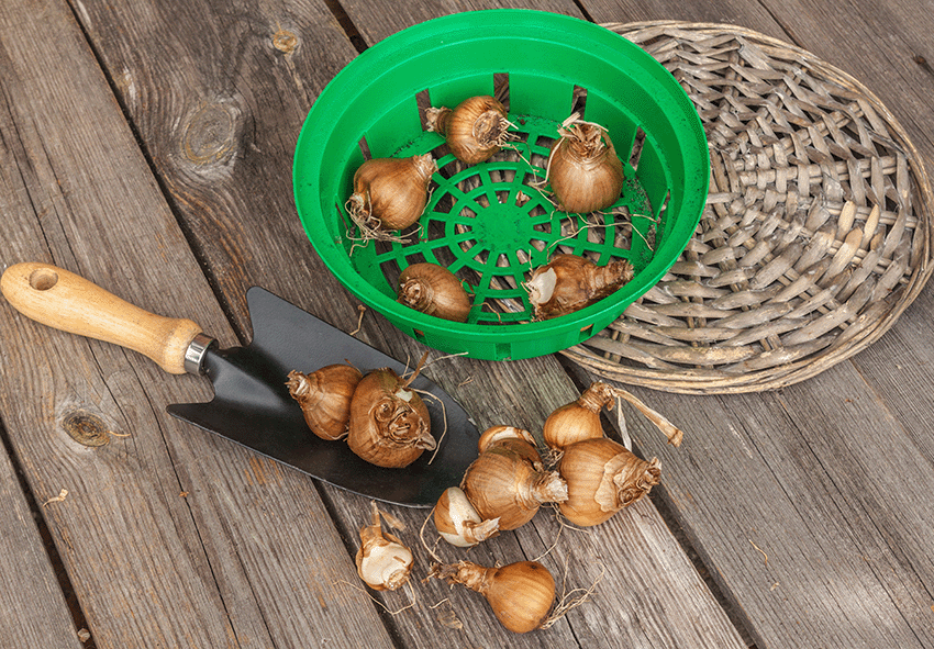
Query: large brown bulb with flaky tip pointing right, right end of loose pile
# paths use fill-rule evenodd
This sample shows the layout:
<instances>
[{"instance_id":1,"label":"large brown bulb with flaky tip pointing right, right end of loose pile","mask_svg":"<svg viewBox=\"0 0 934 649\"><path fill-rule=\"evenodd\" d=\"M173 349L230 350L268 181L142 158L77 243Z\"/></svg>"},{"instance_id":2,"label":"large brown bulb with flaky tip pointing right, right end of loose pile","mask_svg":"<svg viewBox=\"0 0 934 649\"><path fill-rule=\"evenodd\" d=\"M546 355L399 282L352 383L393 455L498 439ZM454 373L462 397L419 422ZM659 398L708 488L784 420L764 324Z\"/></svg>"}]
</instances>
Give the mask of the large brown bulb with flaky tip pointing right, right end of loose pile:
<instances>
[{"instance_id":1,"label":"large brown bulb with flaky tip pointing right, right end of loose pile","mask_svg":"<svg viewBox=\"0 0 934 649\"><path fill-rule=\"evenodd\" d=\"M581 527L608 521L647 494L661 477L657 458L645 461L607 437L567 446L558 472L567 483L560 512Z\"/></svg>"}]
</instances>

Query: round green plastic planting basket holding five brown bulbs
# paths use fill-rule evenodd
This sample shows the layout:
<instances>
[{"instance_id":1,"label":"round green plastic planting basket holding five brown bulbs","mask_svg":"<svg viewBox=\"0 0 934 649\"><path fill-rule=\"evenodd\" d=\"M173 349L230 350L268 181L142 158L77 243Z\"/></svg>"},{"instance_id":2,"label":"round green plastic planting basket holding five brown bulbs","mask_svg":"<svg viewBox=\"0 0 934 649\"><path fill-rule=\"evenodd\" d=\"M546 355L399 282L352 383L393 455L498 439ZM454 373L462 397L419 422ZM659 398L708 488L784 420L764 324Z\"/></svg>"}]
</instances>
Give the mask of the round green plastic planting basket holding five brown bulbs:
<instances>
[{"instance_id":1,"label":"round green plastic planting basket holding five brown bulbs","mask_svg":"<svg viewBox=\"0 0 934 649\"><path fill-rule=\"evenodd\" d=\"M466 166L424 131L424 109L477 94L501 99L510 147ZM572 112L604 126L626 180L612 208L555 210L545 165ZM345 202L367 157L431 153L438 171L408 243L359 240ZM347 65L315 101L294 157L299 216L331 271L366 305L425 345L483 359L542 356L613 322L678 259L697 227L710 174L707 139L675 78L622 36L581 20L490 10L394 34ZM523 283L557 253L599 265L626 258L635 277L575 313L534 321ZM466 323L396 301L405 267L447 266L474 299Z\"/></svg>"}]
</instances>

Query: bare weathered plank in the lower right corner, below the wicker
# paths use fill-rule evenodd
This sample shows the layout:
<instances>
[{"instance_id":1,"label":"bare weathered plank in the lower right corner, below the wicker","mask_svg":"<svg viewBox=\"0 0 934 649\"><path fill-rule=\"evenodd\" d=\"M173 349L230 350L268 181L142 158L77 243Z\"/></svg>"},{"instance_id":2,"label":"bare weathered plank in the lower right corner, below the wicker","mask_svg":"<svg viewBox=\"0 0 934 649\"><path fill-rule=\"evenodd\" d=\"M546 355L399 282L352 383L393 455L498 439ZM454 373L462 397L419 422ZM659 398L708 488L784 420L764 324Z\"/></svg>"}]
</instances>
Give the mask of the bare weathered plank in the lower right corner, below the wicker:
<instances>
[{"instance_id":1,"label":"bare weathered plank in the lower right corner, below the wicker","mask_svg":"<svg viewBox=\"0 0 934 649\"><path fill-rule=\"evenodd\" d=\"M758 647L930 644L931 457L852 367L781 393L664 401L682 448L644 430L636 446L664 454L666 495Z\"/></svg>"}]
</instances>

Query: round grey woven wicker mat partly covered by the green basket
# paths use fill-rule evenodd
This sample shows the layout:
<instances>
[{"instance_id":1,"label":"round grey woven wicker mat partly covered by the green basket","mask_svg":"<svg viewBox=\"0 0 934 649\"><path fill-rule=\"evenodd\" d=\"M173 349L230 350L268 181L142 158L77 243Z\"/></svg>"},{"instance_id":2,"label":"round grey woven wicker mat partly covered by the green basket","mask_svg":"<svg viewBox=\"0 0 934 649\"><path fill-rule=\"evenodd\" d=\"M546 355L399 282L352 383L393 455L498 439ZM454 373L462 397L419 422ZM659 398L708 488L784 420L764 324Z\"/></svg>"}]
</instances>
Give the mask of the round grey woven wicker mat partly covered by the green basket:
<instances>
[{"instance_id":1,"label":"round grey woven wicker mat partly covered by the green basket","mask_svg":"<svg viewBox=\"0 0 934 649\"><path fill-rule=\"evenodd\" d=\"M564 351L598 376L681 393L753 392L866 348L932 270L932 191L898 121L814 55L733 25L608 24L700 112L711 189L670 272Z\"/></svg>"}]
</instances>

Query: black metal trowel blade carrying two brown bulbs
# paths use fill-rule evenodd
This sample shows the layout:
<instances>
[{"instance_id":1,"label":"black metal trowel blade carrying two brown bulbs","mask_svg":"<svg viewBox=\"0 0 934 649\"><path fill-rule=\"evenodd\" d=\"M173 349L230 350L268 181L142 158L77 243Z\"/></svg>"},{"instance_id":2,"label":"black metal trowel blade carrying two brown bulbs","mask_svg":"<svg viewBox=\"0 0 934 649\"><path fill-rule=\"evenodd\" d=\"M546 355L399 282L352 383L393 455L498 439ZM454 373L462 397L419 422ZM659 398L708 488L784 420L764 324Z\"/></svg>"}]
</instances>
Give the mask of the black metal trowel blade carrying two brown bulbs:
<instances>
[{"instance_id":1,"label":"black metal trowel blade carrying two brown bulbs","mask_svg":"<svg viewBox=\"0 0 934 649\"><path fill-rule=\"evenodd\" d=\"M214 399L169 405L171 415L329 484L387 503L431 507L445 489L460 483L477 457L479 433L465 410L422 374L411 387L430 394L423 401L432 435L440 440L437 451L425 451L403 469L386 469L357 457L345 440L326 441L312 434L286 387L290 370L312 372L345 361L364 373L388 367L402 376L412 368L264 289L254 287L246 298L253 343L209 349L203 368Z\"/></svg>"}]
</instances>

